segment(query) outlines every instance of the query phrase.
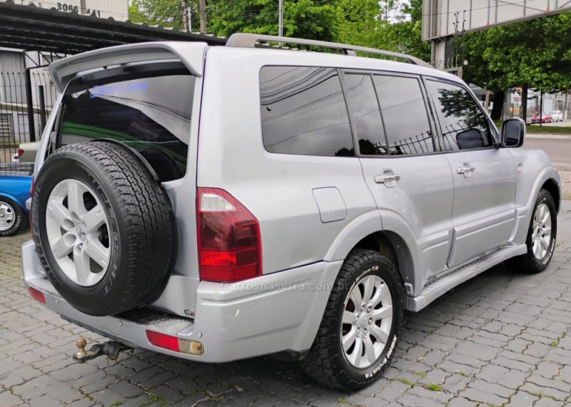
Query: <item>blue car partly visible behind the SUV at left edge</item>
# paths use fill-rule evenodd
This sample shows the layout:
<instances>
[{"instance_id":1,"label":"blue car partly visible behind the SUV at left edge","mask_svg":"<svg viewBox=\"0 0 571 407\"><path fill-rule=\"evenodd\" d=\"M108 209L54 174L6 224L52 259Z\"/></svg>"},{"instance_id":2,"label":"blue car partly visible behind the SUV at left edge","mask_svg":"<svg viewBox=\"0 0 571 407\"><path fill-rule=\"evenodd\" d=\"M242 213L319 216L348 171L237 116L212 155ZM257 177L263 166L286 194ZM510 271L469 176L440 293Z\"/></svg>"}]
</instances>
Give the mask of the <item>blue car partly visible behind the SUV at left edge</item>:
<instances>
[{"instance_id":1,"label":"blue car partly visible behind the SUV at left edge","mask_svg":"<svg viewBox=\"0 0 571 407\"><path fill-rule=\"evenodd\" d=\"M0 173L0 237L13 236L28 224L26 199L32 177Z\"/></svg>"}]
</instances>

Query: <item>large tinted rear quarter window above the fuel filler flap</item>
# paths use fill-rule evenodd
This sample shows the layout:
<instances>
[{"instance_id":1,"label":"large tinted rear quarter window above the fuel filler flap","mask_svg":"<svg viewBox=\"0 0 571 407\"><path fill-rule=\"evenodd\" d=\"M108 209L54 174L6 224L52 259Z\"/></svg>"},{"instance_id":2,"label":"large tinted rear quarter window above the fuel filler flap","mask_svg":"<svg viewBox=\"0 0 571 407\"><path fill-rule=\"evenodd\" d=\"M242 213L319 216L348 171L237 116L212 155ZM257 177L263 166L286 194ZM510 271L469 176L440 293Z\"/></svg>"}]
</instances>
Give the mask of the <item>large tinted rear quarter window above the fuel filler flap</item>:
<instances>
[{"instance_id":1,"label":"large tinted rear quarter window above the fuel filler flap","mask_svg":"<svg viewBox=\"0 0 571 407\"><path fill-rule=\"evenodd\" d=\"M354 156L347 106L335 69L264 66L260 71L263 144L267 151Z\"/></svg>"}]
</instances>

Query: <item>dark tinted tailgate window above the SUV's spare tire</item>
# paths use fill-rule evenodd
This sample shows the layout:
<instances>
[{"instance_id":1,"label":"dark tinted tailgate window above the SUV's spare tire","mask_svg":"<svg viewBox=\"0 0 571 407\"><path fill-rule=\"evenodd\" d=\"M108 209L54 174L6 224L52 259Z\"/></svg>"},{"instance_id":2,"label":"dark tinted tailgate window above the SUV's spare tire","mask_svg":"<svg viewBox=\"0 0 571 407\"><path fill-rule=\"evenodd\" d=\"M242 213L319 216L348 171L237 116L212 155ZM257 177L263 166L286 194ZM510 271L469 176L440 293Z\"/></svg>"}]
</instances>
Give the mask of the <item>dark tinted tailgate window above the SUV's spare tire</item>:
<instances>
[{"instance_id":1,"label":"dark tinted tailgate window above the SUV's spare tire","mask_svg":"<svg viewBox=\"0 0 571 407\"><path fill-rule=\"evenodd\" d=\"M194 76L89 84L64 97L61 145L112 139L136 149L161 181L186 173Z\"/></svg>"}]
</instances>

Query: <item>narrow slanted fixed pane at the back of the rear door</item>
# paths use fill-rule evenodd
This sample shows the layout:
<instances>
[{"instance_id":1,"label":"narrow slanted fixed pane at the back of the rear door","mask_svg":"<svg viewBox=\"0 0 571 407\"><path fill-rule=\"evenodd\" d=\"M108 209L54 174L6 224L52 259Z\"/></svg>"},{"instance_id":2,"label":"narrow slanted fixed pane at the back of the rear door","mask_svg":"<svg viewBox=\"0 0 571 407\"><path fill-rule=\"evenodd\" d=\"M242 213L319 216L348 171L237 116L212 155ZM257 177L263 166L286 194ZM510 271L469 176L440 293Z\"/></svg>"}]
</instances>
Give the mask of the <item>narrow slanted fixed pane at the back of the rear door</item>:
<instances>
[{"instance_id":1,"label":"narrow slanted fixed pane at the back of the rear door","mask_svg":"<svg viewBox=\"0 0 571 407\"><path fill-rule=\"evenodd\" d=\"M387 141L380 119L379 104L373 87L373 77L362 74L345 74L349 99L355 117L360 154L376 156L387 154Z\"/></svg>"}]
</instances>

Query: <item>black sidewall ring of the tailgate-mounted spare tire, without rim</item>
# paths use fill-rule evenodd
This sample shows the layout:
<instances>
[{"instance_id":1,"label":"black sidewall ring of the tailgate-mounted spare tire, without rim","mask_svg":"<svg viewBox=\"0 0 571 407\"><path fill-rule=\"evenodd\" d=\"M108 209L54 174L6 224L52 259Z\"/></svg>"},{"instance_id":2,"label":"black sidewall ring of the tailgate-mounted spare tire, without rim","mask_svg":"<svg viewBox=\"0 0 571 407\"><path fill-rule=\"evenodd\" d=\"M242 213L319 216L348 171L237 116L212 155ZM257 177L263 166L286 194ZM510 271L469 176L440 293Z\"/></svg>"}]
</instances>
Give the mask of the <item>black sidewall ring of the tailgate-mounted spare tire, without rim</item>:
<instances>
[{"instance_id":1,"label":"black sidewall ring of the tailgate-mounted spare tire, without rim","mask_svg":"<svg viewBox=\"0 0 571 407\"><path fill-rule=\"evenodd\" d=\"M56 157L57 159L55 159ZM124 263L127 256L123 253L123 248L128 247L124 238L121 238L121 236L126 236L121 207L114 199L113 191L108 183L103 181L101 171L96 164L82 159L80 154L71 151L61 152L52 159L55 160L46 161L34 184L31 213L33 213L32 233L36 243L36 251L56 290L80 311L93 314L94 301L100 302L101 298L108 298L108 302L112 303L119 295L122 280L125 278L123 273L118 273L118 270L125 267ZM62 174L64 175L62 176ZM94 191L108 220L111 258L106 271L101 271L101 273L105 272L105 276L94 286L80 286L71 281L59 268L49 247L46 233L47 202L55 186L66 179L75 179L89 186ZM106 307L103 306L103 308Z\"/></svg>"}]
</instances>

